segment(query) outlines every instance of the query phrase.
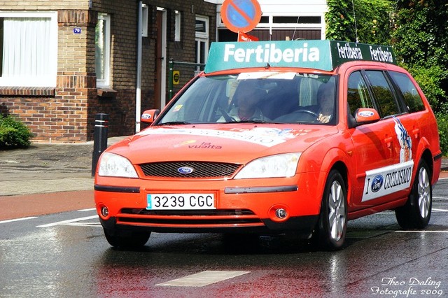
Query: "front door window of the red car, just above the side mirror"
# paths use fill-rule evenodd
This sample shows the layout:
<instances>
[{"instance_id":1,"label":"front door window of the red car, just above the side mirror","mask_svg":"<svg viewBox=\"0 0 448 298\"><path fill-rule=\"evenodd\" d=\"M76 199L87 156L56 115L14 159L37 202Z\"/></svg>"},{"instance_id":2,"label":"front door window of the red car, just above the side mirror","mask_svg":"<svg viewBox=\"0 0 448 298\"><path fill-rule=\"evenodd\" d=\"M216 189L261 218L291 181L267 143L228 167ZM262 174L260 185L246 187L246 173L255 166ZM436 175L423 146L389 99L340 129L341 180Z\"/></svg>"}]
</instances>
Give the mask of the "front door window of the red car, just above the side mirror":
<instances>
[{"instance_id":1,"label":"front door window of the red car, just above the side mirror","mask_svg":"<svg viewBox=\"0 0 448 298\"><path fill-rule=\"evenodd\" d=\"M351 73L349 77L347 102L351 115L354 115L358 108L374 108L372 98L367 90L367 84L360 71Z\"/></svg>"}]
</instances>

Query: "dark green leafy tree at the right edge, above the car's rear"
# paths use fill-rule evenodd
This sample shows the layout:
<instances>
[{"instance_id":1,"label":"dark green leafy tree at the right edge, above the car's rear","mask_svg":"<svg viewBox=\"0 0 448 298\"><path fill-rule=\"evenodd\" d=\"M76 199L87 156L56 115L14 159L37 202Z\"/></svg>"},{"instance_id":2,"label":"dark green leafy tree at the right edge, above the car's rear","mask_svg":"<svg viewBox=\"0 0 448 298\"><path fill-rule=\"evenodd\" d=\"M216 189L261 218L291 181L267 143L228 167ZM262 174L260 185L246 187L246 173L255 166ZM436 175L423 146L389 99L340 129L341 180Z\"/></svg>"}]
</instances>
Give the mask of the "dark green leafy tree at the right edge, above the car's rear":
<instances>
[{"instance_id":1,"label":"dark green leafy tree at the right edge, above the car's rear","mask_svg":"<svg viewBox=\"0 0 448 298\"><path fill-rule=\"evenodd\" d=\"M448 3L398 0L393 47L421 86L436 113L446 113L448 88Z\"/></svg>"}]
</instances>

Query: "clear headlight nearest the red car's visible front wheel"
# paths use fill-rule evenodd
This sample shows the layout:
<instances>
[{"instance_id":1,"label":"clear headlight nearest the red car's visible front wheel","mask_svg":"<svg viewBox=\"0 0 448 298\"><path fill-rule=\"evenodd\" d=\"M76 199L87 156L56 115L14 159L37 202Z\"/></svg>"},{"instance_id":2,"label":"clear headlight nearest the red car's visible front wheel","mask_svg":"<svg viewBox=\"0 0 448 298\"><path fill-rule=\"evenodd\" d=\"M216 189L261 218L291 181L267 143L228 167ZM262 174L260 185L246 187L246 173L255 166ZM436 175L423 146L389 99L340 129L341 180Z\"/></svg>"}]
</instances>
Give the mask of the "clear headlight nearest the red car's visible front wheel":
<instances>
[{"instance_id":1,"label":"clear headlight nearest the red car's visible front wheel","mask_svg":"<svg viewBox=\"0 0 448 298\"><path fill-rule=\"evenodd\" d=\"M286 153L262 157L249 162L235 179L292 177L302 153Z\"/></svg>"}]
</instances>

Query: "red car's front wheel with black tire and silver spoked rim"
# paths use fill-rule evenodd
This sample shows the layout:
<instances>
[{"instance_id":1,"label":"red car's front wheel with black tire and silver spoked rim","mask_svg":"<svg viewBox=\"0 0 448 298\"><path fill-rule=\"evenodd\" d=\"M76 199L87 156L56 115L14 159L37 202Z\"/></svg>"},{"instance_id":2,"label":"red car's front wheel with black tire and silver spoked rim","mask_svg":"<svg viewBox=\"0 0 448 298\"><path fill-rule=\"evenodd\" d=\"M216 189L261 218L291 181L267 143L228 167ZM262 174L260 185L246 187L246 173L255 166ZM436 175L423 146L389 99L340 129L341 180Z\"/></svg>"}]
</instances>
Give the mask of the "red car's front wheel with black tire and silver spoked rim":
<instances>
[{"instance_id":1,"label":"red car's front wheel with black tire and silver spoked rim","mask_svg":"<svg viewBox=\"0 0 448 298\"><path fill-rule=\"evenodd\" d=\"M339 250L344 245L347 229L347 192L344 178L330 171L321 204L321 213L313 242L324 250Z\"/></svg>"}]
</instances>

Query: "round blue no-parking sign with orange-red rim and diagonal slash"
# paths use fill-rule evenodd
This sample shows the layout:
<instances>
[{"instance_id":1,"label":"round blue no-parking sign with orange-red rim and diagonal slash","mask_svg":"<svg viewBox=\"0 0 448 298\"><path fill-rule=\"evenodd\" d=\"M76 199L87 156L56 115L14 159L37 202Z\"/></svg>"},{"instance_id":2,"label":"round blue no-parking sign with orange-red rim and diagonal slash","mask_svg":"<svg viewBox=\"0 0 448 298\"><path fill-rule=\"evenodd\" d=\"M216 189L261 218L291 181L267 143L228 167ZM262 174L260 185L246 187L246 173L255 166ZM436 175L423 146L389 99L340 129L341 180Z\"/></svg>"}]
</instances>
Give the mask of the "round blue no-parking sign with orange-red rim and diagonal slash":
<instances>
[{"instance_id":1,"label":"round blue no-parking sign with orange-red rim and diagonal slash","mask_svg":"<svg viewBox=\"0 0 448 298\"><path fill-rule=\"evenodd\" d=\"M225 0L221 6L221 19L230 31L251 31L261 19L260 3L257 0Z\"/></svg>"}]
</instances>

